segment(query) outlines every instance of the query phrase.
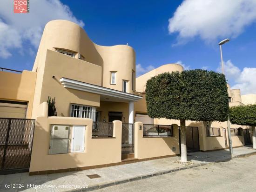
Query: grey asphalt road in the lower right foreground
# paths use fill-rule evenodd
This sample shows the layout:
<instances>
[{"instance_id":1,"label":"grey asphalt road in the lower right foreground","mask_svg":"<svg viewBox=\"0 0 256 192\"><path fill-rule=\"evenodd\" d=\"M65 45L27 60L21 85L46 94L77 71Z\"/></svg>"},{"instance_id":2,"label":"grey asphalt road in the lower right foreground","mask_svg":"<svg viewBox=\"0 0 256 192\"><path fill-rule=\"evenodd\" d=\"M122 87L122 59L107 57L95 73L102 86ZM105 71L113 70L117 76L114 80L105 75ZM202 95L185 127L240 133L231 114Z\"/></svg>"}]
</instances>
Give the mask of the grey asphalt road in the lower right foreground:
<instances>
[{"instance_id":1,"label":"grey asphalt road in the lower right foreground","mask_svg":"<svg viewBox=\"0 0 256 192\"><path fill-rule=\"evenodd\" d=\"M256 192L256 155L173 172L95 192Z\"/></svg>"}]
</instances>

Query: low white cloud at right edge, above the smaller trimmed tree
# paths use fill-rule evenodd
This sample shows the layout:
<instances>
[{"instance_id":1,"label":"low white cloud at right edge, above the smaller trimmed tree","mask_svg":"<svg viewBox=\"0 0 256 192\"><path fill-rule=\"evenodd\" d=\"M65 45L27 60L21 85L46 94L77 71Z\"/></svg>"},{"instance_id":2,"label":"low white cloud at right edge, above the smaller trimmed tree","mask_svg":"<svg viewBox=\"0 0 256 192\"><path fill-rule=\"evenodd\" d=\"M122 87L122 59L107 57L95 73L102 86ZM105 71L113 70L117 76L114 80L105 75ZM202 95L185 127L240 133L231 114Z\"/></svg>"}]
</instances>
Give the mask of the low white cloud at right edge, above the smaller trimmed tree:
<instances>
[{"instance_id":1,"label":"low white cloud at right edge, above the smaller trimmed tree","mask_svg":"<svg viewBox=\"0 0 256 192\"><path fill-rule=\"evenodd\" d=\"M256 68L244 67L241 71L235 66L231 60L224 62L224 73L226 78L231 81L231 89L240 89L242 94L256 93ZM217 68L217 72L221 72L221 64Z\"/></svg>"}]
</instances>

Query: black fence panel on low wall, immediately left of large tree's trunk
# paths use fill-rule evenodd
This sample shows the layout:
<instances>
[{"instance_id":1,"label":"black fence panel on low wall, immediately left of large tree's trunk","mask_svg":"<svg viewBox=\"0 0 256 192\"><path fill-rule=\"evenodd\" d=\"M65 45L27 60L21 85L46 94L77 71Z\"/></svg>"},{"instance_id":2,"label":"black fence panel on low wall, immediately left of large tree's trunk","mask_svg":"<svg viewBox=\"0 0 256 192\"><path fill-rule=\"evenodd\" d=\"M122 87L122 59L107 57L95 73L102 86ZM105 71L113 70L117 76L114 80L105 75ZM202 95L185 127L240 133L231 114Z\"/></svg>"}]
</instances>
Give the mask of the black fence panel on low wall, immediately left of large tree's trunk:
<instances>
[{"instance_id":1,"label":"black fence panel on low wall, immediately left of large tree's trunk","mask_svg":"<svg viewBox=\"0 0 256 192\"><path fill-rule=\"evenodd\" d=\"M143 124L143 137L173 136L173 126Z\"/></svg>"}]
</instances>

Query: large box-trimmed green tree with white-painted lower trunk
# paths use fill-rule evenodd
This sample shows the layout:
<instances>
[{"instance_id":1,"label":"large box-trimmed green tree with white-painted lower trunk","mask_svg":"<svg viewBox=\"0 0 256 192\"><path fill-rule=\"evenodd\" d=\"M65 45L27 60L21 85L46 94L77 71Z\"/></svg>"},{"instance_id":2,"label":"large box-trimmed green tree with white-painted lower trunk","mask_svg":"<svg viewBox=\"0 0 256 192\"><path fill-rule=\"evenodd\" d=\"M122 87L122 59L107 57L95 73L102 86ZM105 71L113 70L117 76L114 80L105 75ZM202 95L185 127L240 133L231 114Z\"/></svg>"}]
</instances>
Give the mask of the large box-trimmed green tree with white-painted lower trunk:
<instances>
[{"instance_id":1,"label":"large box-trimmed green tree with white-painted lower trunk","mask_svg":"<svg viewBox=\"0 0 256 192\"><path fill-rule=\"evenodd\" d=\"M226 121L227 82L221 73L206 70L162 73L147 81L146 102L151 118L179 119L181 161L187 161L186 120Z\"/></svg>"}]
</instances>

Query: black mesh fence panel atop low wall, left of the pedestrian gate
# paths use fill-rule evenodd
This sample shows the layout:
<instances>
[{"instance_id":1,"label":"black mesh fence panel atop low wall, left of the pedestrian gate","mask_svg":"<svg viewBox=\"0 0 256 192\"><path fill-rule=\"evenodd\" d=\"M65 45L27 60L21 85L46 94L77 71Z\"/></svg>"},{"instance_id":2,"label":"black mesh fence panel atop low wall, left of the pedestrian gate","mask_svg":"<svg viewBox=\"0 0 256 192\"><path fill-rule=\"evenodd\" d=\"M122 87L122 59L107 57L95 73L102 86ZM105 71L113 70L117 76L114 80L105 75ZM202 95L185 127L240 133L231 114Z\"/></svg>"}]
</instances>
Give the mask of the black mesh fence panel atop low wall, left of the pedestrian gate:
<instances>
[{"instance_id":1,"label":"black mesh fence panel atop low wall, left of the pedestrian gate","mask_svg":"<svg viewBox=\"0 0 256 192\"><path fill-rule=\"evenodd\" d=\"M93 122L92 138L113 137L113 123Z\"/></svg>"}]
</instances>

